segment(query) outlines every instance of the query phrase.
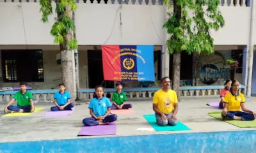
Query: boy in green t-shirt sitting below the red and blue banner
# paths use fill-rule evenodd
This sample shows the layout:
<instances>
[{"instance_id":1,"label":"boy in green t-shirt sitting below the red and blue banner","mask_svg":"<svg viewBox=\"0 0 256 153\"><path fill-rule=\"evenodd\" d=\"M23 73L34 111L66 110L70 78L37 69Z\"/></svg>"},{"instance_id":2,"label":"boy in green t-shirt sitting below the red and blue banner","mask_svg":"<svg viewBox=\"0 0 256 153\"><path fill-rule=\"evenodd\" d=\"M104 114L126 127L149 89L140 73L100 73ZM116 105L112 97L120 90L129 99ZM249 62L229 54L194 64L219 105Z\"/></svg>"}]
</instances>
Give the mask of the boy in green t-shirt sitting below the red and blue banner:
<instances>
[{"instance_id":1,"label":"boy in green t-shirt sitting below the red and blue banner","mask_svg":"<svg viewBox=\"0 0 256 153\"><path fill-rule=\"evenodd\" d=\"M116 83L116 91L113 93L112 101L113 105L111 110L122 110L132 108L131 104L125 104L127 101L125 92L122 92L122 84L120 82Z\"/></svg>"}]
</instances>

